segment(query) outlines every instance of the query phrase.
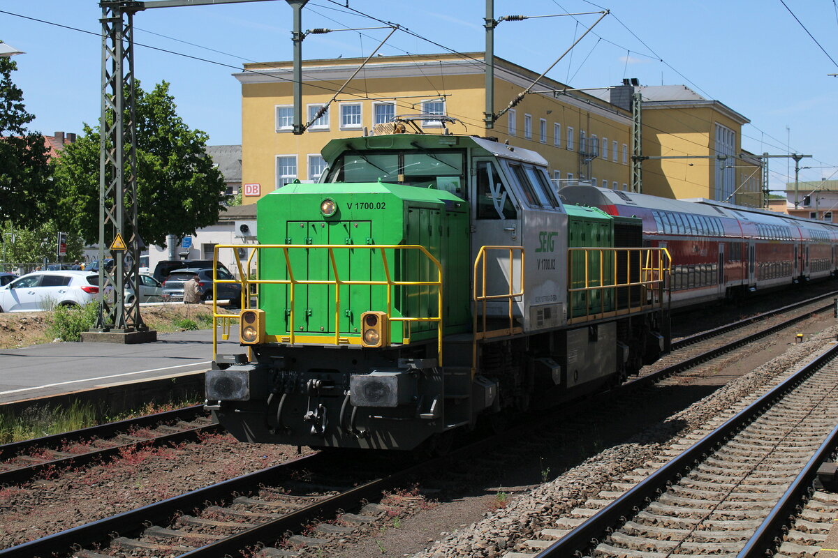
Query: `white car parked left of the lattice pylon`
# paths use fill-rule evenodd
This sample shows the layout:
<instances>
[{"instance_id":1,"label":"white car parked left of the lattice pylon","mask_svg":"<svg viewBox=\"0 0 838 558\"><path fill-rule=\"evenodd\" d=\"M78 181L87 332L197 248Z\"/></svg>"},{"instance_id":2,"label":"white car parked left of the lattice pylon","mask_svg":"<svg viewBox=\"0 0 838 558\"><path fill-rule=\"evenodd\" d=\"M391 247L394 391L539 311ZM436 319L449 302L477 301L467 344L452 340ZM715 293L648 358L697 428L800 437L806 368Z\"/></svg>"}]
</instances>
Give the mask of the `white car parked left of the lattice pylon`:
<instances>
[{"instance_id":1,"label":"white car parked left of the lattice pylon","mask_svg":"<svg viewBox=\"0 0 838 558\"><path fill-rule=\"evenodd\" d=\"M0 287L0 312L33 312L86 305L99 296L99 275L89 271L35 271Z\"/></svg>"}]
</instances>

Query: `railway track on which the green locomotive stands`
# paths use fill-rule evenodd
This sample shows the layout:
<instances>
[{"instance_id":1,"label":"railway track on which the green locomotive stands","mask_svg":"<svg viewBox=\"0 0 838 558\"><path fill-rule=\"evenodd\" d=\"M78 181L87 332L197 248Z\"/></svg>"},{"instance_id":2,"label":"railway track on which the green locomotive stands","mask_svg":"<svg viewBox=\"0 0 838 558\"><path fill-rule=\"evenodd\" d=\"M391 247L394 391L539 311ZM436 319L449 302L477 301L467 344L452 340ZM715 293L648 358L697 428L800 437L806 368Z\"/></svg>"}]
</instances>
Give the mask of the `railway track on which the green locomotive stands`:
<instances>
[{"instance_id":1,"label":"railway track on which the green locomotive stands","mask_svg":"<svg viewBox=\"0 0 838 558\"><path fill-rule=\"evenodd\" d=\"M818 303L806 301L805 304ZM831 305L820 304L816 310L827 308L831 308ZM794 320L803 319L813 311L803 307ZM764 321L762 315L747 321L760 320ZM696 343L684 343L684 346L695 345ZM612 393L616 392L618 390ZM608 397L608 394L605 394L605 397ZM541 451L535 439L525 438L521 436L519 429L515 430L518 433L509 436L503 444L507 450L505 454L509 454L508 458L515 460L515 455L512 454L519 453L520 450L516 449L518 442L524 446L529 445L530 449L535 447L532 451L536 453ZM484 441L482 444L484 448L489 449L497 442ZM468 453L474 449L463 448L463 451ZM504 457L499 455L499 459L503 460ZM498 464L497 460L494 463L481 463L479 458L473 460L469 468L479 470L490 466L497 467ZM264 554L293 555L288 553L288 546L323 544L335 537L344 536L358 525L375 521L380 514L386 513L386 509L375 504L360 509L361 500L375 501L384 490L403 485L405 479L411 475L420 475L430 466L430 463L413 464L407 468L394 465L393 470L381 471L375 478L366 476L348 481L337 479L334 474L329 476L328 473L336 468L345 469L345 462L336 465L328 456L316 454L18 545L0 551L0 557L46 556L53 553L70 555L68 549L75 545L76 548L81 546L87 549L75 552L78 558L99 558L101 554L93 549L109 544L109 552L116 553L115 555L158 555L162 552L190 558L235 555L253 545L274 544L279 538L277 534L299 533L306 526L309 529L313 528L313 532L308 535L286 538L283 541L286 548L275 549L279 554L272 554L272 550L266 550ZM370 464L368 468L372 470L373 467ZM442 484L445 482L443 479ZM214 504L206 505L206 502ZM339 509L360 509L360 512L337 514ZM178 517L180 513L186 514ZM336 518L335 523L320 523L313 527L317 523L316 520L324 518ZM113 538L111 534L118 536Z\"/></svg>"}]
</instances>

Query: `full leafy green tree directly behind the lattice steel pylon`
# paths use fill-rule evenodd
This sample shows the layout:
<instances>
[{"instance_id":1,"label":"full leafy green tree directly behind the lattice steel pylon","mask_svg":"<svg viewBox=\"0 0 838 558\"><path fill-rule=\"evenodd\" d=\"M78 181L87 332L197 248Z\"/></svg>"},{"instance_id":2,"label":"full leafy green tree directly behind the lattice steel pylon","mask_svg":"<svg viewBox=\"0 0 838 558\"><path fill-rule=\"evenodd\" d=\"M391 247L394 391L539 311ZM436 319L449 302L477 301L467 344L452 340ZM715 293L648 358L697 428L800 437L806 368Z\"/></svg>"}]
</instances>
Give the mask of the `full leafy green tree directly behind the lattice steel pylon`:
<instances>
[{"instance_id":1,"label":"full leafy green tree directly behind the lattice steel pylon","mask_svg":"<svg viewBox=\"0 0 838 558\"><path fill-rule=\"evenodd\" d=\"M176 112L168 83L147 93L137 84L137 226L145 243L162 245L214 224L225 182L206 154L208 136L190 130ZM99 240L99 129L84 133L54 161L59 224L88 243Z\"/></svg>"}]
</instances>

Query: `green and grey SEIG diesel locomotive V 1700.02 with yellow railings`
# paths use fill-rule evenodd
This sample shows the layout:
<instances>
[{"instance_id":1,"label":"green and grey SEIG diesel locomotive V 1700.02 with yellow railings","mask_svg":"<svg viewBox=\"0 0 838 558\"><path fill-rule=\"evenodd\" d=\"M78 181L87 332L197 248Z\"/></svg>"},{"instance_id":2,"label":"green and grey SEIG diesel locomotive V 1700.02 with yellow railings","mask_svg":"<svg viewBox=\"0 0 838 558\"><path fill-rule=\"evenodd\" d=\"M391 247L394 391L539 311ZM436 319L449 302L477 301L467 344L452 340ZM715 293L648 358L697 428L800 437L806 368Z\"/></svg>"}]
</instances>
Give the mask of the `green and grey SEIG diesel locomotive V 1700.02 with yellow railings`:
<instances>
[{"instance_id":1,"label":"green and grey SEIG diesel locomotive V 1700.02 with yellow railings","mask_svg":"<svg viewBox=\"0 0 838 558\"><path fill-rule=\"evenodd\" d=\"M216 350L207 407L236 438L437 446L667 349L665 248L639 219L563 204L534 151L393 133L323 157L320 182L258 202L249 257L216 248L240 258L247 351Z\"/></svg>"}]
</instances>

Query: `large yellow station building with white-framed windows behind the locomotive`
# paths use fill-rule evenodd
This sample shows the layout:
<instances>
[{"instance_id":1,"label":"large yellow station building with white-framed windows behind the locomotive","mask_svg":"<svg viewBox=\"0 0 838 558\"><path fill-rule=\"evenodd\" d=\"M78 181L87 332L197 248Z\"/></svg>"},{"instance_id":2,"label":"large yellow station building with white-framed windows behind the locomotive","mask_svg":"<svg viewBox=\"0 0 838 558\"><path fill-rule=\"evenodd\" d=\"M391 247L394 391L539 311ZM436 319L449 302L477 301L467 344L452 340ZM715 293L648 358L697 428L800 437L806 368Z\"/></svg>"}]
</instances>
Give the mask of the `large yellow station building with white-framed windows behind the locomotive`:
<instances>
[{"instance_id":1,"label":"large yellow station building with white-framed windows behind the locomotive","mask_svg":"<svg viewBox=\"0 0 838 558\"><path fill-rule=\"evenodd\" d=\"M382 131L381 125L396 115L418 114L444 114L460 120L447 125L453 134L494 136L500 142L540 152L548 161L556 187L582 182L630 189L630 105L610 102L610 90L573 91L543 78L533 94L526 95L487 130L483 58L483 53L377 56L336 97L335 92L363 59L305 60L303 121L312 120L329 100L334 98L334 102L298 136L292 133L292 63L246 64L245 71L235 74L242 90L242 201L256 202L294 179L317 180L324 168L320 150L331 139L375 134L376 128ZM538 74L496 57L494 77L497 113ZM727 115L723 110L727 107L716 105L644 103L644 156L709 154L715 146L712 131L716 122L729 125L738 141L741 123L737 125L737 113L728 109L732 115ZM743 117L738 120L747 121ZM438 122L421 126L434 133L441 131ZM738 143L735 149L739 149ZM712 162L698 161L689 161L692 166L685 161L644 161L644 193L713 198Z\"/></svg>"}]
</instances>

